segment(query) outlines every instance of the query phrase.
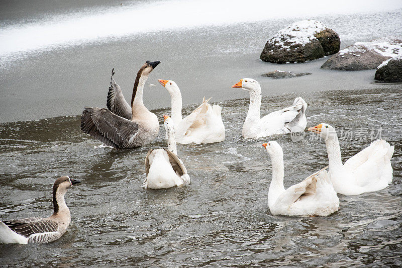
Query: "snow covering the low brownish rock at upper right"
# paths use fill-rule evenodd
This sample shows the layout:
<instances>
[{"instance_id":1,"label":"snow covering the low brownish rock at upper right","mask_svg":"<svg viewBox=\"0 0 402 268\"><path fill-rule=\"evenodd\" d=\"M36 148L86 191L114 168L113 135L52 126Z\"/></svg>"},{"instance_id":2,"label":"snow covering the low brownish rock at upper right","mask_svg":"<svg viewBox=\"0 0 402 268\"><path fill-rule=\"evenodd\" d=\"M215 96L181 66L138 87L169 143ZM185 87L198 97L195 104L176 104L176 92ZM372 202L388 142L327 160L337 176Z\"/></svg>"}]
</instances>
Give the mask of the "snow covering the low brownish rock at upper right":
<instances>
[{"instance_id":1,"label":"snow covering the low brownish rock at upper right","mask_svg":"<svg viewBox=\"0 0 402 268\"><path fill-rule=\"evenodd\" d=\"M353 54L357 56L367 51L374 51L384 57L394 57L402 54L402 42L397 37L383 37L370 42L356 42L352 46L339 51L339 55Z\"/></svg>"}]
</instances>

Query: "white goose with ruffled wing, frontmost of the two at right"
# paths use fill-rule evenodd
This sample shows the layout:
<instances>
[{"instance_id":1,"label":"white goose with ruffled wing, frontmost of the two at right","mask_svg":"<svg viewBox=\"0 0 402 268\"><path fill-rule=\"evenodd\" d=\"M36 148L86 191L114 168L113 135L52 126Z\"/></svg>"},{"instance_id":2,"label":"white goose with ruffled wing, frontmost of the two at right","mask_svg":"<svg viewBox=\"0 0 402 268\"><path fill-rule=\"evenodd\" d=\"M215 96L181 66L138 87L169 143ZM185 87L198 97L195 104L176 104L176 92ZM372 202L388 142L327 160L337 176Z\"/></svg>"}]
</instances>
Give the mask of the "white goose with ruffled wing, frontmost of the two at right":
<instances>
[{"instance_id":1,"label":"white goose with ruffled wing, frontmost of the two at right","mask_svg":"<svg viewBox=\"0 0 402 268\"><path fill-rule=\"evenodd\" d=\"M339 198L325 170L328 166L285 190L282 148L276 141L262 146L272 161L272 181L268 190L268 207L272 215L328 216L338 211Z\"/></svg>"}]
</instances>

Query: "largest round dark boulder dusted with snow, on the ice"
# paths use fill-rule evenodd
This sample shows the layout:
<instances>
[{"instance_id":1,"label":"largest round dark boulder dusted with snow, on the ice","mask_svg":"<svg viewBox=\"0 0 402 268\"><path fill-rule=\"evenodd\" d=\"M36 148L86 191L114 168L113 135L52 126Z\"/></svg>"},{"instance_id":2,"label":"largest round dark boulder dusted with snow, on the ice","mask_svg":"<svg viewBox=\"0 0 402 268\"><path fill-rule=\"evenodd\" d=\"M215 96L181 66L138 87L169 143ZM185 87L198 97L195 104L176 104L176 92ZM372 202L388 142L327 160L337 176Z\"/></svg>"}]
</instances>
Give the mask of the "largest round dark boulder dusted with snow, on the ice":
<instances>
[{"instance_id":1,"label":"largest round dark boulder dusted with snow, on the ice","mask_svg":"<svg viewBox=\"0 0 402 268\"><path fill-rule=\"evenodd\" d=\"M273 63L296 63L322 58L339 51L337 33L318 21L299 21L268 40L260 59Z\"/></svg>"}]
</instances>

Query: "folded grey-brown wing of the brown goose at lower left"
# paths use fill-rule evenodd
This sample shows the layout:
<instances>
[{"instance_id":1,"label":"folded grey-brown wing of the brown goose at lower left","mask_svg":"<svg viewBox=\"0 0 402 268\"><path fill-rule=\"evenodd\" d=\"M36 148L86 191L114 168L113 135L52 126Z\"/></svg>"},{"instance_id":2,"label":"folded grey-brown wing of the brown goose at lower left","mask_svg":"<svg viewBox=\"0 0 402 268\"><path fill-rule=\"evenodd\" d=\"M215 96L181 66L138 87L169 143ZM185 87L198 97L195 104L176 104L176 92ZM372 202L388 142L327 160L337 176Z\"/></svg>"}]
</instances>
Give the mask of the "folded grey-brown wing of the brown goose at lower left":
<instances>
[{"instance_id":1,"label":"folded grey-brown wing of the brown goose at lower left","mask_svg":"<svg viewBox=\"0 0 402 268\"><path fill-rule=\"evenodd\" d=\"M43 218L26 218L3 222L14 232L29 237L32 234L57 232L57 223Z\"/></svg>"}]
</instances>

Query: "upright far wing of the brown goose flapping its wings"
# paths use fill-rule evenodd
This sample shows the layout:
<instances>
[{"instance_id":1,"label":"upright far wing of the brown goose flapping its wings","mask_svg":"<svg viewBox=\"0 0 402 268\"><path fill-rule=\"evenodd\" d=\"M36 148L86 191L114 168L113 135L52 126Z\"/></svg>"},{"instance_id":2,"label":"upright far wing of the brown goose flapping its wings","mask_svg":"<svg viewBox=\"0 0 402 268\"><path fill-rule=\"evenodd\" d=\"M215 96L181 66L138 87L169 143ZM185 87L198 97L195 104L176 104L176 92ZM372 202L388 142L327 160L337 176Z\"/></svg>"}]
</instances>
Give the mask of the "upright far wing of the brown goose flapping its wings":
<instances>
[{"instance_id":1,"label":"upright far wing of the brown goose flapping its wings","mask_svg":"<svg viewBox=\"0 0 402 268\"><path fill-rule=\"evenodd\" d=\"M113 75L115 74L113 70L114 68L112 69L112 76L110 78L108 101L106 105L115 115L131 120L131 106L127 103L126 99L124 99L120 86L116 83L115 79L113 79Z\"/></svg>"}]
</instances>

